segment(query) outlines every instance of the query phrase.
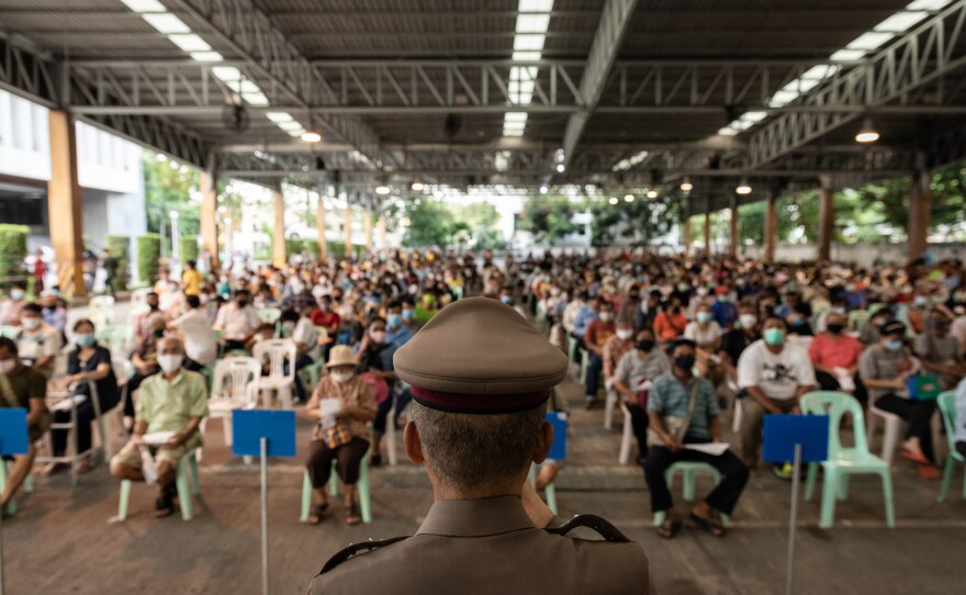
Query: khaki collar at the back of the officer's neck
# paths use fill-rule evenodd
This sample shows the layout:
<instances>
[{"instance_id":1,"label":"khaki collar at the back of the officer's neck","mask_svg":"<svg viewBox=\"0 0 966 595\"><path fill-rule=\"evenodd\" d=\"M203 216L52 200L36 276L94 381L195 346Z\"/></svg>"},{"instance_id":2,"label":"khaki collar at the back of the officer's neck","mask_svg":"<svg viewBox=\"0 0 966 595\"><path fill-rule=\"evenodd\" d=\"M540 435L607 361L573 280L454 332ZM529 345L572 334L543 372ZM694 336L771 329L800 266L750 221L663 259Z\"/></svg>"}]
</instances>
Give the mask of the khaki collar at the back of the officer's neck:
<instances>
[{"instance_id":1,"label":"khaki collar at the back of the officer's neck","mask_svg":"<svg viewBox=\"0 0 966 595\"><path fill-rule=\"evenodd\" d=\"M416 535L484 537L532 528L520 498L499 496L436 502Z\"/></svg>"}]
</instances>

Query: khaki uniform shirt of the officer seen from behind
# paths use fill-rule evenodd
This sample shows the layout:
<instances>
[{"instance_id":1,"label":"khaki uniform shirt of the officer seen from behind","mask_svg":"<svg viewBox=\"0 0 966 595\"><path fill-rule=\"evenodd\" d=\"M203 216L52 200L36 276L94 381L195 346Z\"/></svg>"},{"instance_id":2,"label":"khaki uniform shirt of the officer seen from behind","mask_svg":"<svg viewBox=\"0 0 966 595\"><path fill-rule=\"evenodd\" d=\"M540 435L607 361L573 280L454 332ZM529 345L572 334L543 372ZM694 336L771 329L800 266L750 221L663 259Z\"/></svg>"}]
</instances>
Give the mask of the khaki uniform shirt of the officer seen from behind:
<instances>
[{"instance_id":1,"label":"khaki uniform shirt of the officer seen from behind","mask_svg":"<svg viewBox=\"0 0 966 595\"><path fill-rule=\"evenodd\" d=\"M634 542L591 541L533 526L519 498L437 502L414 537L357 554L311 595L459 593L647 595L648 558Z\"/></svg>"}]
</instances>

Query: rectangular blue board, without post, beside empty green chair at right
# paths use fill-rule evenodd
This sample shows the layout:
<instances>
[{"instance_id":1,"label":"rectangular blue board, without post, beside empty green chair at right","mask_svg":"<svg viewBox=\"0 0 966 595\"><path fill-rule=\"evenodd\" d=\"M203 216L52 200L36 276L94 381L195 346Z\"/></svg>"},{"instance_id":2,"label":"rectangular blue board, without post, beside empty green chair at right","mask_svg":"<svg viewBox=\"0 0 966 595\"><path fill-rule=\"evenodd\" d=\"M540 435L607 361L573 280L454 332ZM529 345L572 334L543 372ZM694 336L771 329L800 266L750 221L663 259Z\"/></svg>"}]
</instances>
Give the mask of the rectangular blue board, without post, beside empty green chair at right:
<instances>
[{"instance_id":1,"label":"rectangular blue board, without post, beside empty green chair at right","mask_svg":"<svg viewBox=\"0 0 966 595\"><path fill-rule=\"evenodd\" d=\"M828 415L766 415L762 459L786 462L795 459L795 445L801 445L801 462L817 463L829 458Z\"/></svg>"}]
</instances>

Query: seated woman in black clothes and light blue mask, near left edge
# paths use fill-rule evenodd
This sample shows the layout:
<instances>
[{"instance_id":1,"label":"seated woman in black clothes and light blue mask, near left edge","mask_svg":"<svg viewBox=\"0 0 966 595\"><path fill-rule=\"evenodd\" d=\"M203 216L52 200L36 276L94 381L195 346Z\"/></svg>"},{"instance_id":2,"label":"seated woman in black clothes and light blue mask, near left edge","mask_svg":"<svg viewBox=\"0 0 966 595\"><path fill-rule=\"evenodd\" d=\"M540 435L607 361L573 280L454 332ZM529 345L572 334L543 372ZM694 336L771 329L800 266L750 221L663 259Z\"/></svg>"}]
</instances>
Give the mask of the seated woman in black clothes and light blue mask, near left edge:
<instances>
[{"instance_id":1,"label":"seated woman in black clothes and light blue mask, near left edge","mask_svg":"<svg viewBox=\"0 0 966 595\"><path fill-rule=\"evenodd\" d=\"M86 452L91 448L91 423L94 420L96 411L91 401L90 382L94 383L98 396L98 406L101 414L111 411L117 405L120 398L117 392L117 379L111 368L111 351L98 345L94 338L94 324L81 318L74 324L74 344L76 348L67 356L67 378L64 379L64 388L71 396L83 396L85 400L77 404L77 428L75 440L76 452ZM55 409L54 424L69 424L70 409ZM69 431L55 428L50 430L54 456L63 457L67 452ZM49 475L67 469L67 463L50 463L44 469L44 474ZM93 459L86 457L77 471L86 473L93 468Z\"/></svg>"}]
</instances>

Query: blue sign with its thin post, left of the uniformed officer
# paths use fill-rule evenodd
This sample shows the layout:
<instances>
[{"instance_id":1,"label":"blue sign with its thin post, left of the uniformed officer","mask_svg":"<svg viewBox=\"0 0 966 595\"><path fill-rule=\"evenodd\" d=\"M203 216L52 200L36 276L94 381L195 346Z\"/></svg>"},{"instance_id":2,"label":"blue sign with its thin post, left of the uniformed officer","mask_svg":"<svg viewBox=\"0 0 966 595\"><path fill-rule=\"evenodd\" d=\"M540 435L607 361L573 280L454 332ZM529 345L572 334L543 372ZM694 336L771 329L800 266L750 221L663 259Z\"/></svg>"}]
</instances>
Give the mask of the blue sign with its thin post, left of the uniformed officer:
<instances>
[{"instance_id":1,"label":"blue sign with its thin post, left of the uniformed officer","mask_svg":"<svg viewBox=\"0 0 966 595\"><path fill-rule=\"evenodd\" d=\"M232 412L232 433L235 436L232 454L260 459L261 593L268 595L268 458L295 456L295 412L236 409Z\"/></svg>"}]
</instances>

